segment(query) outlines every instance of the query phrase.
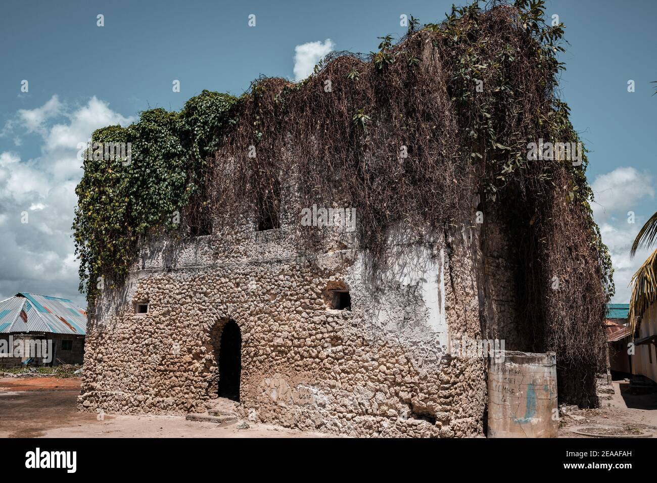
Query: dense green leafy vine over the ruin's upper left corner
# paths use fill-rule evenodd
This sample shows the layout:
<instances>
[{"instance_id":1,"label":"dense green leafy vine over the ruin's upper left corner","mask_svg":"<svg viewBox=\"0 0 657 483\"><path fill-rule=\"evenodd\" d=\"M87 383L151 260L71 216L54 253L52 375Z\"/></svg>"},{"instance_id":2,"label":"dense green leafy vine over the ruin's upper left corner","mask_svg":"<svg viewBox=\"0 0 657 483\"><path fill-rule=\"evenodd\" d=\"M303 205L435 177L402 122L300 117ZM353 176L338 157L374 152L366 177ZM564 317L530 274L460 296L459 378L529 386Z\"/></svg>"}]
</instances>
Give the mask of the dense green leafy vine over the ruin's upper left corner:
<instances>
[{"instance_id":1,"label":"dense green leafy vine over the ruin's upper left corner","mask_svg":"<svg viewBox=\"0 0 657 483\"><path fill-rule=\"evenodd\" d=\"M230 113L236 101L203 91L181 112L147 110L131 126L93 133L91 143L131 143L131 162L84 157L72 228L79 288L87 298L95 296L99 277L112 283L127 273L140 236L154 227L178 227L173 214L196 193L221 129L235 123Z\"/></svg>"}]
</instances>

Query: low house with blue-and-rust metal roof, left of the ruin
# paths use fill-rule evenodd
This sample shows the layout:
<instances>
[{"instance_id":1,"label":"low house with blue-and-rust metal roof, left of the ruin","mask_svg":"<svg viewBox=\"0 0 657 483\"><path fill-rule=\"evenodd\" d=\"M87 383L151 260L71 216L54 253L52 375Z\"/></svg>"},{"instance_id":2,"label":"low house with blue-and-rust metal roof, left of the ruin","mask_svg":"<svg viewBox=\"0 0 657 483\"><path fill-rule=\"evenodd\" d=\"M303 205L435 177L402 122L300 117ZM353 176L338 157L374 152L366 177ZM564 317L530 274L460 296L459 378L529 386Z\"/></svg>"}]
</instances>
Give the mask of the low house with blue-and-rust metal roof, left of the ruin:
<instances>
[{"instance_id":1,"label":"low house with blue-and-rust metal roof, left of the ruin","mask_svg":"<svg viewBox=\"0 0 657 483\"><path fill-rule=\"evenodd\" d=\"M0 302L0 368L81 364L87 312L66 298L18 293Z\"/></svg>"}]
</instances>

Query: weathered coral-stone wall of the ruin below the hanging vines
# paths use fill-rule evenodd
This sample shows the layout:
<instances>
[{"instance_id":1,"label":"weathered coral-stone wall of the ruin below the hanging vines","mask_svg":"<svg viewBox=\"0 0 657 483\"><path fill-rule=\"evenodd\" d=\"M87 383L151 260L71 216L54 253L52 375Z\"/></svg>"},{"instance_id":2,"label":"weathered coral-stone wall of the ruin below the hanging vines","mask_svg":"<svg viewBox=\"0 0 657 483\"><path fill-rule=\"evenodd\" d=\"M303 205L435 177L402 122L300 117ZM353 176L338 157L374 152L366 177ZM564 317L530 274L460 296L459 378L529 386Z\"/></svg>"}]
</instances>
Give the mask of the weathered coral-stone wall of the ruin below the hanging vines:
<instances>
[{"instance_id":1,"label":"weathered coral-stone wall of the ruin below the hanging vines","mask_svg":"<svg viewBox=\"0 0 657 483\"><path fill-rule=\"evenodd\" d=\"M202 412L235 394L222 382L237 367L239 411L252 421L354 436L484 434L486 357L455 341L526 350L505 219L464 214L419 245L400 228L375 284L352 233L318 227L332 235L309 253L288 208L277 229L257 231L253 213L233 224L215 214L212 235L148 242L125 285L101 292L80 407ZM224 345L233 322L239 334Z\"/></svg>"}]
</instances>

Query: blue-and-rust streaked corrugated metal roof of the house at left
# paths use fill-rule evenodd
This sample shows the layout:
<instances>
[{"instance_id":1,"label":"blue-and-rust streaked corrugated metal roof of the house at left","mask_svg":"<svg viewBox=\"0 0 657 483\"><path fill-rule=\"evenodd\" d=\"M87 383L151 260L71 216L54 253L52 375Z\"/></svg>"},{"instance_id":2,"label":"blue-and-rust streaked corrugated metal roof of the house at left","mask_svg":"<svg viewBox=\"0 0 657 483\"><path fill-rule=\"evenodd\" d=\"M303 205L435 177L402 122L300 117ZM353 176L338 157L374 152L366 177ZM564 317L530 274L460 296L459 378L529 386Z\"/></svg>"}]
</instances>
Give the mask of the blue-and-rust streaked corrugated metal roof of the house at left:
<instances>
[{"instance_id":1,"label":"blue-and-rust streaked corrugated metal roof of the house at left","mask_svg":"<svg viewBox=\"0 0 657 483\"><path fill-rule=\"evenodd\" d=\"M19 293L0 302L0 333L87 333L87 312L68 298Z\"/></svg>"}]
</instances>

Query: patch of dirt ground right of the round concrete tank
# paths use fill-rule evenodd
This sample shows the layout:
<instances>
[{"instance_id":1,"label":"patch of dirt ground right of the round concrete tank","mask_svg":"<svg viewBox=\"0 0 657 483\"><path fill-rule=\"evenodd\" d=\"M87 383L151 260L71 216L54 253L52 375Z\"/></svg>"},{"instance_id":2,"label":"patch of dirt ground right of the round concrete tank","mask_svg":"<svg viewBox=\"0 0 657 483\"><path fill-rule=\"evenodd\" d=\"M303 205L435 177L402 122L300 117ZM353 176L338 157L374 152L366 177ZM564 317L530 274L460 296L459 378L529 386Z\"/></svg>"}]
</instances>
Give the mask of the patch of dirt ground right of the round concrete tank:
<instances>
[{"instance_id":1,"label":"patch of dirt ground right of the round concrete tank","mask_svg":"<svg viewBox=\"0 0 657 483\"><path fill-rule=\"evenodd\" d=\"M629 394L629 383L615 380L612 400L602 401L598 409L574 411L562 418L560 438L587 438L572 430L581 426L632 427L643 432L652 432L657 438L657 394Z\"/></svg>"}]
</instances>

